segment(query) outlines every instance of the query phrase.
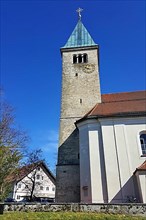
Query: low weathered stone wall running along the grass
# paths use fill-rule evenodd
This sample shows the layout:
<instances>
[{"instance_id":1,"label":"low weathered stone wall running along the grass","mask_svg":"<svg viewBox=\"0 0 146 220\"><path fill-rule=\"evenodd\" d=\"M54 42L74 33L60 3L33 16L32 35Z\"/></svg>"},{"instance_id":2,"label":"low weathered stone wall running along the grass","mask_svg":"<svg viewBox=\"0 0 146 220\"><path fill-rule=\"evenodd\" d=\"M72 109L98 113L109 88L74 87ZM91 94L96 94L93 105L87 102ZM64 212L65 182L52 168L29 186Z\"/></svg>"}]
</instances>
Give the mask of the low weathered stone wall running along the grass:
<instances>
[{"instance_id":1,"label":"low weathered stone wall running along the grass","mask_svg":"<svg viewBox=\"0 0 146 220\"><path fill-rule=\"evenodd\" d=\"M8 211L73 211L73 212L97 212L110 214L125 214L146 217L146 204L55 204L55 203L11 203L0 204L4 206L4 212Z\"/></svg>"}]
</instances>

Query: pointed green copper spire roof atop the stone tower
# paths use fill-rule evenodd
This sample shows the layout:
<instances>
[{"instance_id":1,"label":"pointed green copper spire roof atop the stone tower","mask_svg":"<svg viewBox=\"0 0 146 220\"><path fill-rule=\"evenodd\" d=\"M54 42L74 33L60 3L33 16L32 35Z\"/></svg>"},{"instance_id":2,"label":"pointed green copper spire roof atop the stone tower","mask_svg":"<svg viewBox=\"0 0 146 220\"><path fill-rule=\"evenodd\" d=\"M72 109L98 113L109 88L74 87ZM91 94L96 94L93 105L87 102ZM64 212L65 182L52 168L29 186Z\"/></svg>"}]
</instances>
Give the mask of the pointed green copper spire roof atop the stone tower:
<instances>
[{"instance_id":1,"label":"pointed green copper spire roof atop the stone tower","mask_svg":"<svg viewBox=\"0 0 146 220\"><path fill-rule=\"evenodd\" d=\"M85 47L85 46L96 46L92 37L88 33L87 29L81 22L78 21L75 29L73 30L71 36L69 37L67 43L63 48L73 48L73 47Z\"/></svg>"}]
</instances>

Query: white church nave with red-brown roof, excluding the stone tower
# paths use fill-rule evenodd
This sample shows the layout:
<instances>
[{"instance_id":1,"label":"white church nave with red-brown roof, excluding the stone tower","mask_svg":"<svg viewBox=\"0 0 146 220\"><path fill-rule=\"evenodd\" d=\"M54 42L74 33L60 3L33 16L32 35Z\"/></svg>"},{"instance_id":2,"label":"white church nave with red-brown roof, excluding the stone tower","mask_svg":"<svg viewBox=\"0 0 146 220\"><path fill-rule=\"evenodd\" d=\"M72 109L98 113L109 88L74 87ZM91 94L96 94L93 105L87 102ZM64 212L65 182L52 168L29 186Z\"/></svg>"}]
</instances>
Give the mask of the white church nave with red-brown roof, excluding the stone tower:
<instances>
[{"instance_id":1,"label":"white church nave with red-brown roof, excluding the stone tower","mask_svg":"<svg viewBox=\"0 0 146 220\"><path fill-rule=\"evenodd\" d=\"M102 100L76 122L80 202L145 203L146 92L102 95Z\"/></svg>"}]
</instances>

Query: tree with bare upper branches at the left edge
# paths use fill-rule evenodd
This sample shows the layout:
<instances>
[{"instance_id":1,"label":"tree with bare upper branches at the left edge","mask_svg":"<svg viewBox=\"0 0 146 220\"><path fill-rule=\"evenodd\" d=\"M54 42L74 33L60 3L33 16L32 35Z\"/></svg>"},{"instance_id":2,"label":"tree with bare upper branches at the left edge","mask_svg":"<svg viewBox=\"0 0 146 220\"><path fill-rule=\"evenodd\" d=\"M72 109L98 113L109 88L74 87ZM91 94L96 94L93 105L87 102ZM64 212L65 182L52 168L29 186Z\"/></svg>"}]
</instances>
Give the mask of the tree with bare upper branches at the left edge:
<instances>
[{"instance_id":1,"label":"tree with bare upper branches at the left edge","mask_svg":"<svg viewBox=\"0 0 146 220\"><path fill-rule=\"evenodd\" d=\"M0 96L0 200L10 192L8 176L18 168L27 141L26 133L15 124L13 108Z\"/></svg>"}]
</instances>

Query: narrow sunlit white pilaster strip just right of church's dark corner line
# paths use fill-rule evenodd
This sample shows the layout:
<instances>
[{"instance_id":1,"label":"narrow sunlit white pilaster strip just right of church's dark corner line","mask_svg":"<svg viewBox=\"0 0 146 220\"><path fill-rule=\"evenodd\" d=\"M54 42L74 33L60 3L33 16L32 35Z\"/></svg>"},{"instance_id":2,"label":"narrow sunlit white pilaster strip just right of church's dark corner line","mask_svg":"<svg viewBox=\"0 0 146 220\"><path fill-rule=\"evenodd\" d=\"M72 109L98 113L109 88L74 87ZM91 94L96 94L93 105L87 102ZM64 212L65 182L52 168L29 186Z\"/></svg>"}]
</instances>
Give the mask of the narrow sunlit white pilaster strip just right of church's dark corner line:
<instances>
[{"instance_id":1,"label":"narrow sunlit white pilaster strip just right of church's dark corner line","mask_svg":"<svg viewBox=\"0 0 146 220\"><path fill-rule=\"evenodd\" d=\"M121 187L117 161L117 149L113 125L111 122L108 126L106 124L102 124L102 138L105 156L108 202L111 202L115 196L116 198L114 199L114 202L120 202Z\"/></svg>"}]
</instances>

